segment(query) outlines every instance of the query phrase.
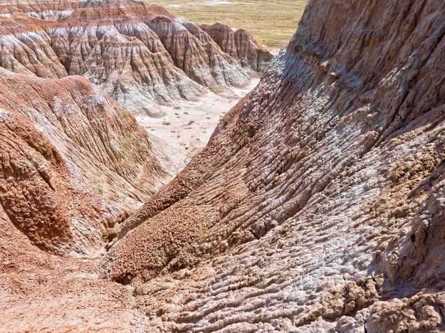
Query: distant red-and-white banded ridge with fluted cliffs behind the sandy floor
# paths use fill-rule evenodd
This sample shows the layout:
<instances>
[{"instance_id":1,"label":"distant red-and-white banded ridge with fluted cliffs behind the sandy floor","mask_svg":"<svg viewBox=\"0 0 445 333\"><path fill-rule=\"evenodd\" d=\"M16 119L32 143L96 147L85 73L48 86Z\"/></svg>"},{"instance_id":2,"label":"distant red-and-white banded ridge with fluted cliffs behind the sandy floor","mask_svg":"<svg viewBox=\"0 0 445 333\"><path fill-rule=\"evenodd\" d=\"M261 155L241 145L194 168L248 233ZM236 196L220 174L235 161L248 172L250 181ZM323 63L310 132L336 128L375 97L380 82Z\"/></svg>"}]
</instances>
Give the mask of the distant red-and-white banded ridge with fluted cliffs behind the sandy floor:
<instances>
[{"instance_id":1,"label":"distant red-and-white banded ridge with fluted cliffs behind the sandy floor","mask_svg":"<svg viewBox=\"0 0 445 333\"><path fill-rule=\"evenodd\" d=\"M62 16L57 9L63 4L69 9L63 18L34 18ZM194 100L206 88L219 92L245 85L271 59L247 33L239 38L239 55L232 57L198 26L155 4L1 6L1 67L43 78L84 75L135 113L157 116L155 104Z\"/></svg>"}]
</instances>

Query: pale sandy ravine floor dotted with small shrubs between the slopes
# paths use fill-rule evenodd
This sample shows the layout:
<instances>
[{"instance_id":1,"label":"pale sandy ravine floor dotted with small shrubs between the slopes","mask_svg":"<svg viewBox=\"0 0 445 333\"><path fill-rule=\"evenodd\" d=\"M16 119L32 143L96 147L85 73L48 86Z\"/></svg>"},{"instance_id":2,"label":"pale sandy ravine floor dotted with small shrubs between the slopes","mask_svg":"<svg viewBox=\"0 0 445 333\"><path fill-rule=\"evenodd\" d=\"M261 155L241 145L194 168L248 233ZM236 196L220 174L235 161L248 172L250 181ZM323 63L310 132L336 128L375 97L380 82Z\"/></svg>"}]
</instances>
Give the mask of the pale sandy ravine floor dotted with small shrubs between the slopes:
<instances>
[{"instance_id":1,"label":"pale sandy ravine floor dotted with small shrubs between the slopes","mask_svg":"<svg viewBox=\"0 0 445 333\"><path fill-rule=\"evenodd\" d=\"M155 153L164 168L172 175L201 151L210 139L219 120L242 97L256 87L259 78L253 78L244 88L231 88L221 95L210 91L197 102L178 101L172 106L158 106L164 117L137 116L153 143Z\"/></svg>"}]
</instances>

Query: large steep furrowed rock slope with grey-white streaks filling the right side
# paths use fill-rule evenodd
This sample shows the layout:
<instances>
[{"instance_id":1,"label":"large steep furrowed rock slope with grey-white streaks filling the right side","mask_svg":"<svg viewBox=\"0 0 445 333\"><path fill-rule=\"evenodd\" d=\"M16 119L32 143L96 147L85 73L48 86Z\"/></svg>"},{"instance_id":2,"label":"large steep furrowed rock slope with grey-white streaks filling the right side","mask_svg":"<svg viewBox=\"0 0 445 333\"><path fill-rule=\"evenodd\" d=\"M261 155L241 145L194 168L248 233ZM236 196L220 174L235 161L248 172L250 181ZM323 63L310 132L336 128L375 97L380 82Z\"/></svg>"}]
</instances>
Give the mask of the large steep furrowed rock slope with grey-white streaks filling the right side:
<instances>
[{"instance_id":1,"label":"large steep furrowed rock slope with grey-white streaks filling the right side","mask_svg":"<svg viewBox=\"0 0 445 333\"><path fill-rule=\"evenodd\" d=\"M101 265L148 330L445 329L444 18L436 0L310 1Z\"/></svg>"}]
</instances>

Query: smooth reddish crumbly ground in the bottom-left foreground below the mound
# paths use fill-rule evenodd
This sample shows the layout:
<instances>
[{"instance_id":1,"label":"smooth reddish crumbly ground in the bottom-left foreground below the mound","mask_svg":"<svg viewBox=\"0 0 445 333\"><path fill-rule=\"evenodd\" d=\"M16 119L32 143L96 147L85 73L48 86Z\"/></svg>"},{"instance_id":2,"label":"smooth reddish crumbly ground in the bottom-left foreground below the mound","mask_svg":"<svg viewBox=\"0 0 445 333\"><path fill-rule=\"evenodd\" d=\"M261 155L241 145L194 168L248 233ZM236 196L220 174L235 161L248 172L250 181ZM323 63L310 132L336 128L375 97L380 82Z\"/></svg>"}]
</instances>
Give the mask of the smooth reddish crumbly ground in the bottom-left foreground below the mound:
<instances>
[{"instance_id":1,"label":"smooth reddish crumbly ground in the bottom-left foreground below the mound","mask_svg":"<svg viewBox=\"0 0 445 333\"><path fill-rule=\"evenodd\" d=\"M31 245L0 206L0 332L128 332L132 292Z\"/></svg>"}]
</instances>

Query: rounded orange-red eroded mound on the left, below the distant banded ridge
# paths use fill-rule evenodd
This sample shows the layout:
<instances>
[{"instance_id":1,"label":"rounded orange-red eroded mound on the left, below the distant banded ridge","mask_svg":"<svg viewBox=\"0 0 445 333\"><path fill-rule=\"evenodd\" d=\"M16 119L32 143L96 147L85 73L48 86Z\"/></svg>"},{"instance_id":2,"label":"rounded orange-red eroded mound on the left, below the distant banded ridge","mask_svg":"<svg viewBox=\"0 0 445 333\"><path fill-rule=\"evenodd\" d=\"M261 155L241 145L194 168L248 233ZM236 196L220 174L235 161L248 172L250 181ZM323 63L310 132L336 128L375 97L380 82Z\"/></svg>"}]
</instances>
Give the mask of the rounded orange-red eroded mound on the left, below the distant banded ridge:
<instances>
[{"instance_id":1,"label":"rounded orange-red eroded mound on the left, below the distant banded ridge","mask_svg":"<svg viewBox=\"0 0 445 333\"><path fill-rule=\"evenodd\" d=\"M135 118L88 80L0 69L0 203L33 245L94 254L167 174Z\"/></svg>"}]
</instances>

